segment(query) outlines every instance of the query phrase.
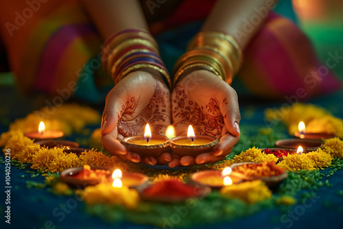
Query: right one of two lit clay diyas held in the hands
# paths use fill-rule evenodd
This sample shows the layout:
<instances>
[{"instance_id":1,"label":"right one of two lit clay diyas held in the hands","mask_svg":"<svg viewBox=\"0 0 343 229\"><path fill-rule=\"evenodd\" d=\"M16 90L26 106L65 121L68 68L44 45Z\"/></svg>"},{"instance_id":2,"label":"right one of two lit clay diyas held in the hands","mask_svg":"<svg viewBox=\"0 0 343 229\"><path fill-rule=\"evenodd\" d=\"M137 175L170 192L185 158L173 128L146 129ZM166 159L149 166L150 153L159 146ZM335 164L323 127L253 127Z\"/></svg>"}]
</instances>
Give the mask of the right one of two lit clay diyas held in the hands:
<instances>
[{"instance_id":1,"label":"right one of two lit clay diyas held in the hands","mask_svg":"<svg viewBox=\"0 0 343 229\"><path fill-rule=\"evenodd\" d=\"M213 136L196 136L191 125L188 127L187 136L176 136L169 141L173 152L182 156L197 156L198 154L211 152L217 143L219 143L218 139Z\"/></svg>"}]
</instances>

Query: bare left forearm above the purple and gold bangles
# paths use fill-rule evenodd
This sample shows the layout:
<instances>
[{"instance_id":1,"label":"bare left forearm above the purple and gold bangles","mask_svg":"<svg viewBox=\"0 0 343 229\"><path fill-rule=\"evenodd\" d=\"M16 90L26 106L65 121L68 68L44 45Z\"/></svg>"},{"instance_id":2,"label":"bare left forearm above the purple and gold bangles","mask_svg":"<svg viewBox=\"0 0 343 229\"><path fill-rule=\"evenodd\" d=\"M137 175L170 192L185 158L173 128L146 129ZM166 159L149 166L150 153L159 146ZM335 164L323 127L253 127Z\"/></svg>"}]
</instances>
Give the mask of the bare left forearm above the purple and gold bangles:
<instances>
[{"instance_id":1,"label":"bare left forearm above the purple and gold bangles","mask_svg":"<svg viewBox=\"0 0 343 229\"><path fill-rule=\"evenodd\" d=\"M137 0L82 0L104 39L123 29L148 31Z\"/></svg>"}]
</instances>

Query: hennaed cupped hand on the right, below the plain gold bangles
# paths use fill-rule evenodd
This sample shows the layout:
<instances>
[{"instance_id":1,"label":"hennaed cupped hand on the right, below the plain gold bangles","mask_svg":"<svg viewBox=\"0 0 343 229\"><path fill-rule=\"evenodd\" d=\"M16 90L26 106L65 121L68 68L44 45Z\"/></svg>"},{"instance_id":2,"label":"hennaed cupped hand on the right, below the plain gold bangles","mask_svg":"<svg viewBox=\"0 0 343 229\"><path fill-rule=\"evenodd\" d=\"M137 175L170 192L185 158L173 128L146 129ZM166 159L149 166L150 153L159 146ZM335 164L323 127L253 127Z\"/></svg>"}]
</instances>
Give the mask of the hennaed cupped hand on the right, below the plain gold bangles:
<instances>
[{"instance_id":1,"label":"hennaed cupped hand on the right, below the plain gold bangles","mask_svg":"<svg viewBox=\"0 0 343 229\"><path fill-rule=\"evenodd\" d=\"M171 94L172 118L177 135L187 135L193 125L198 135L220 139L213 152L193 156L173 156L169 167L205 165L226 158L239 140L241 119L235 90L224 80L205 70L184 77Z\"/></svg>"}]
</instances>

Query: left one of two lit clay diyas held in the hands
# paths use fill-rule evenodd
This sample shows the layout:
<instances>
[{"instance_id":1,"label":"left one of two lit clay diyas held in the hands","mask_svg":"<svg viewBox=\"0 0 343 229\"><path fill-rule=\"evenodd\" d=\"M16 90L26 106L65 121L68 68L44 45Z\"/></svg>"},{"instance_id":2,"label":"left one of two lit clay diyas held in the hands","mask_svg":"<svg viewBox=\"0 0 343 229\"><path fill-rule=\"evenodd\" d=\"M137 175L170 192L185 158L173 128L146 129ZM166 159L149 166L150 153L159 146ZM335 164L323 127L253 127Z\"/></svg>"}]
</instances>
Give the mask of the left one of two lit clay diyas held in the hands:
<instances>
[{"instance_id":1,"label":"left one of two lit clay diyas held in the hands","mask_svg":"<svg viewBox=\"0 0 343 229\"><path fill-rule=\"evenodd\" d=\"M121 141L130 152L142 156L159 156L168 150L168 138L163 135L152 135L150 125L145 125L144 136L127 136Z\"/></svg>"}]
</instances>

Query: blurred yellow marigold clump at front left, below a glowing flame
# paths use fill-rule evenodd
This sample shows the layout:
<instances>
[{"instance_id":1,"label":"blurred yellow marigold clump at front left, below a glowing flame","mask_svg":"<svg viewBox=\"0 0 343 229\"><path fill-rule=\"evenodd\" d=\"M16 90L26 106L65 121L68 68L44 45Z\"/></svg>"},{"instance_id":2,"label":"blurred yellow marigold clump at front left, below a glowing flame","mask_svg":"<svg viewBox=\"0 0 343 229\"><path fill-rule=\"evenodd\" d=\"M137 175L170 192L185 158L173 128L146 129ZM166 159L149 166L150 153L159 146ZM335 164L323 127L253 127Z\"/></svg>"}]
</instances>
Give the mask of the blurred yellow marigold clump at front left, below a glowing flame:
<instances>
[{"instance_id":1,"label":"blurred yellow marigold clump at front left, below a glowing flame","mask_svg":"<svg viewBox=\"0 0 343 229\"><path fill-rule=\"evenodd\" d=\"M129 189L127 186L114 188L108 183L87 186L82 195L86 204L119 204L135 208L139 202L139 195L135 189Z\"/></svg>"}]
</instances>

